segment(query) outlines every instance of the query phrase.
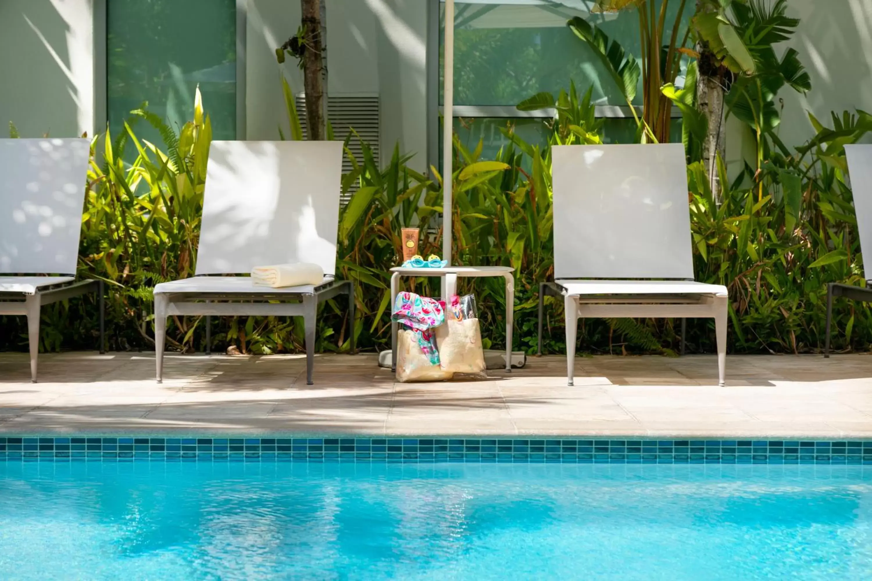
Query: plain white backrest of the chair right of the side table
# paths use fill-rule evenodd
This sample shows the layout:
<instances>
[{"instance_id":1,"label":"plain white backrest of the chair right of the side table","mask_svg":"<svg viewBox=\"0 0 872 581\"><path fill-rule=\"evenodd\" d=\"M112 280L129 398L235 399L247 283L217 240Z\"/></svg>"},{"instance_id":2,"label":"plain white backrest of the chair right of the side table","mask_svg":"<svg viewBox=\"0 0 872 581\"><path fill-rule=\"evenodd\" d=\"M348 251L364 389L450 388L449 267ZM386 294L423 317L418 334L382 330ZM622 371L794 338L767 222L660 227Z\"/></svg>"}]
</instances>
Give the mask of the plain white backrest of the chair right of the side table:
<instances>
[{"instance_id":1,"label":"plain white backrest of the chair right of the side table","mask_svg":"<svg viewBox=\"0 0 872 581\"><path fill-rule=\"evenodd\" d=\"M683 145L551 152L555 279L693 279Z\"/></svg>"}]
</instances>

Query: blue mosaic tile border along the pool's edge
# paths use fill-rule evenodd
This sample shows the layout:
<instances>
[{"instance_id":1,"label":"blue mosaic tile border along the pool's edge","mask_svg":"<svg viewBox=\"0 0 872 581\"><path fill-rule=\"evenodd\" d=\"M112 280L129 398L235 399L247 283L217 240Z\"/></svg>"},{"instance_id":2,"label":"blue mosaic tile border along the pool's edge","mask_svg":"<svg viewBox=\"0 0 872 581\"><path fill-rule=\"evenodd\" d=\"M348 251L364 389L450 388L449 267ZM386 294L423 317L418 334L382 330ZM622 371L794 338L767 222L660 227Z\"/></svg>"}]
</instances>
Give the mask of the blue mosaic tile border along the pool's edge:
<instances>
[{"instance_id":1,"label":"blue mosaic tile border along the pool's edge","mask_svg":"<svg viewBox=\"0 0 872 581\"><path fill-rule=\"evenodd\" d=\"M872 441L0 436L0 462L865 464Z\"/></svg>"}]
</instances>

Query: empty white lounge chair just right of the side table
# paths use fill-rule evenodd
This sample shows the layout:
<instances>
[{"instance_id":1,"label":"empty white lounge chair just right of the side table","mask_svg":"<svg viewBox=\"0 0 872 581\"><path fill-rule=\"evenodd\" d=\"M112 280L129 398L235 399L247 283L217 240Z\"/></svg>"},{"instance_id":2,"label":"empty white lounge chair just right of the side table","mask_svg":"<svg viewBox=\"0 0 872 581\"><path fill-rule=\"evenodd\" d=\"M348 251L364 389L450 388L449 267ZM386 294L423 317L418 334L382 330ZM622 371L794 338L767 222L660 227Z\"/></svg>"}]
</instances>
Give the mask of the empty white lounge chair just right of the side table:
<instances>
[{"instance_id":1,"label":"empty white lounge chair just right of the side table","mask_svg":"<svg viewBox=\"0 0 872 581\"><path fill-rule=\"evenodd\" d=\"M547 287L566 307L569 385L582 317L713 317L724 385L727 291L693 281L684 147L555 146L552 188L555 281Z\"/></svg>"}]
</instances>

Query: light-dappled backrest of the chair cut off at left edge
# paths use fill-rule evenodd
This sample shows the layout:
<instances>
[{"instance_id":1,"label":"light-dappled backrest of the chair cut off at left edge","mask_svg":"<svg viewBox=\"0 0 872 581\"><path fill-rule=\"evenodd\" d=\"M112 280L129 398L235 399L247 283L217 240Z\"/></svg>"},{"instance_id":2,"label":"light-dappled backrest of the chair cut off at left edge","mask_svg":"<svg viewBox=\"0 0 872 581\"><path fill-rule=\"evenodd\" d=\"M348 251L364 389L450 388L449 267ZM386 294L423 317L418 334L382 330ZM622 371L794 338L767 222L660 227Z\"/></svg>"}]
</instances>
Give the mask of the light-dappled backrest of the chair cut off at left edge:
<instances>
[{"instance_id":1,"label":"light-dappled backrest of the chair cut off at left edge","mask_svg":"<svg viewBox=\"0 0 872 581\"><path fill-rule=\"evenodd\" d=\"M0 139L0 273L75 274L90 141Z\"/></svg>"}]
</instances>

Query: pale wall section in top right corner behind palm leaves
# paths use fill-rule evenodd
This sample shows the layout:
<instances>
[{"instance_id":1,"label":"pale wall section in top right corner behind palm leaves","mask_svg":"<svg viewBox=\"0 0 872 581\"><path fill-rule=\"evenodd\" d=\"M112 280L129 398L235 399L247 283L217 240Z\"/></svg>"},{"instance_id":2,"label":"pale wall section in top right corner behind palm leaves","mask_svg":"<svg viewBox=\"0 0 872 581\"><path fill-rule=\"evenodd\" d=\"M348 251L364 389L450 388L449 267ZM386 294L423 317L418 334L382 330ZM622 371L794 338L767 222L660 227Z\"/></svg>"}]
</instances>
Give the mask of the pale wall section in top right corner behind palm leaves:
<instances>
[{"instance_id":1,"label":"pale wall section in top right corner behind palm leaves","mask_svg":"<svg viewBox=\"0 0 872 581\"><path fill-rule=\"evenodd\" d=\"M812 90L781 91L780 136L787 145L800 145L814 135L806 111L832 125L830 111L872 110L872 0L792 0L788 14L800 18L791 45L800 52Z\"/></svg>"}]
</instances>

